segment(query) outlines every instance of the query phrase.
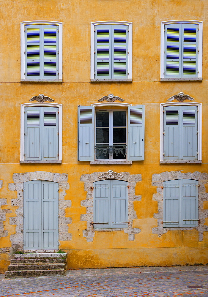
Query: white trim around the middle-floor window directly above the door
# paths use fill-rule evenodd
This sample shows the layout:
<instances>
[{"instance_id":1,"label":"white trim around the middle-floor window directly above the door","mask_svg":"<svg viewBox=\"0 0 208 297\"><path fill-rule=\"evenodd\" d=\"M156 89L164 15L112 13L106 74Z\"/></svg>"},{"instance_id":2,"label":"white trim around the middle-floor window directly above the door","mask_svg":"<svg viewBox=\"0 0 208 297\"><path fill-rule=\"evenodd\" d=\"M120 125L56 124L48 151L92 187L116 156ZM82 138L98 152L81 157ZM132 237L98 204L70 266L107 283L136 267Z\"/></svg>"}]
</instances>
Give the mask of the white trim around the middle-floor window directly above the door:
<instances>
[{"instance_id":1,"label":"white trim around the middle-floor window directly above the door","mask_svg":"<svg viewBox=\"0 0 208 297\"><path fill-rule=\"evenodd\" d=\"M59 108L59 158L58 161L62 161L62 104L58 103L24 103L21 104L21 134L20 134L20 161L24 160L24 130L25 130L25 107L31 106L47 106L47 107L58 107ZM31 162L29 162L31 163ZM41 163L41 160L35 161L35 163ZM55 162L54 162L55 163Z\"/></svg>"}]
</instances>

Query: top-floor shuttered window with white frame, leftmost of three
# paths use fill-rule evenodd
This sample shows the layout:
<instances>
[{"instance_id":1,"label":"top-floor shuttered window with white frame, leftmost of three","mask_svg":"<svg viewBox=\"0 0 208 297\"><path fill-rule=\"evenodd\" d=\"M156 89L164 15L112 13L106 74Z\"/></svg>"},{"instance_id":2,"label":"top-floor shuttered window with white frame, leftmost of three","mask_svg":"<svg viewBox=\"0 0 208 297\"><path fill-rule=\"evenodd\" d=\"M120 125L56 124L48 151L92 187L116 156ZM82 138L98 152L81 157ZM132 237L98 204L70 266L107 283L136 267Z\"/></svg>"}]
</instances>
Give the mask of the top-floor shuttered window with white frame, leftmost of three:
<instances>
[{"instance_id":1,"label":"top-floor shuttered window with white frame, leftmost of three","mask_svg":"<svg viewBox=\"0 0 208 297\"><path fill-rule=\"evenodd\" d=\"M21 81L62 81L62 23L21 23Z\"/></svg>"}]
</instances>

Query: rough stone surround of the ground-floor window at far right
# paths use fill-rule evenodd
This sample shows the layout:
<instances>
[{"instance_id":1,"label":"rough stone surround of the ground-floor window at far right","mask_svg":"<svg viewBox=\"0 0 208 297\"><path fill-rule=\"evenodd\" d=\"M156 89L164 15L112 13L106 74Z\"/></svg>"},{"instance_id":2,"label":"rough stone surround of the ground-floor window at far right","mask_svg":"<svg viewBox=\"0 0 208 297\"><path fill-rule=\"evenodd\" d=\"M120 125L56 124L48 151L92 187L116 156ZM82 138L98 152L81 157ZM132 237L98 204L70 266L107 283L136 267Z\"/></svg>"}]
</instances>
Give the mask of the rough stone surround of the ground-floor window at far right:
<instances>
[{"instance_id":1,"label":"rough stone surround of the ground-floor window at far right","mask_svg":"<svg viewBox=\"0 0 208 297\"><path fill-rule=\"evenodd\" d=\"M205 218L208 217L208 210L203 208L204 201L208 201L208 193L204 184L208 184L208 174L195 171L193 173L182 173L180 171L165 171L162 173L155 173L152 175L152 186L157 186L157 193L153 194L152 200L158 203L158 212L154 214L157 219L157 227L152 228L153 234L158 234L161 237L169 230L193 230L198 231L198 240L203 241L203 233L208 231L208 226L205 224ZM194 179L198 181L198 217L200 219L198 227L163 227L163 181L171 181L175 179Z\"/></svg>"}]
</instances>

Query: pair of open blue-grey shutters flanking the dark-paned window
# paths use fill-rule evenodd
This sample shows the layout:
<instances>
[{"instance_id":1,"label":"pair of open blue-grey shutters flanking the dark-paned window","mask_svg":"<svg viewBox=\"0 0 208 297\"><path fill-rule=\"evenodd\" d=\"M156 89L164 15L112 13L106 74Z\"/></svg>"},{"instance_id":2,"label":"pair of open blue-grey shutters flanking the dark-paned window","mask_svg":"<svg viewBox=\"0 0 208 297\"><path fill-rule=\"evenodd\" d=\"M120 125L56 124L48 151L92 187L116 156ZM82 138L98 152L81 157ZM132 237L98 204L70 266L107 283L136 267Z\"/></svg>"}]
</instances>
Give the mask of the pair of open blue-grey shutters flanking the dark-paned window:
<instances>
[{"instance_id":1,"label":"pair of open blue-grey shutters flanking the dark-paned window","mask_svg":"<svg viewBox=\"0 0 208 297\"><path fill-rule=\"evenodd\" d=\"M78 106L78 160L95 159L94 107ZM127 160L144 160L144 105L128 106Z\"/></svg>"}]
</instances>

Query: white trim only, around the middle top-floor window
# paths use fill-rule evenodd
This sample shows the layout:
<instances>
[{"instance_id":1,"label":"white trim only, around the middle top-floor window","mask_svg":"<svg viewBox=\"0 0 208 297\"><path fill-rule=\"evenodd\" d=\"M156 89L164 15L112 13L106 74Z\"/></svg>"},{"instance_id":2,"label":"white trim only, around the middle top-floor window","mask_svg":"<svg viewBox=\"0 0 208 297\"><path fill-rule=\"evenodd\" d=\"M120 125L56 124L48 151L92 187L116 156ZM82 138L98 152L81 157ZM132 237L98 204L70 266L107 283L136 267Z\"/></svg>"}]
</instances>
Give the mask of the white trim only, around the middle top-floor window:
<instances>
[{"instance_id":1,"label":"white trim only, around the middle top-floor window","mask_svg":"<svg viewBox=\"0 0 208 297\"><path fill-rule=\"evenodd\" d=\"M96 25L125 25L129 26L129 43L128 43L128 78L127 79L94 79L94 30ZM132 81L132 22L124 22L124 21L100 21L100 22L92 22L91 23L91 71L90 71L90 79L91 81Z\"/></svg>"}]
</instances>

